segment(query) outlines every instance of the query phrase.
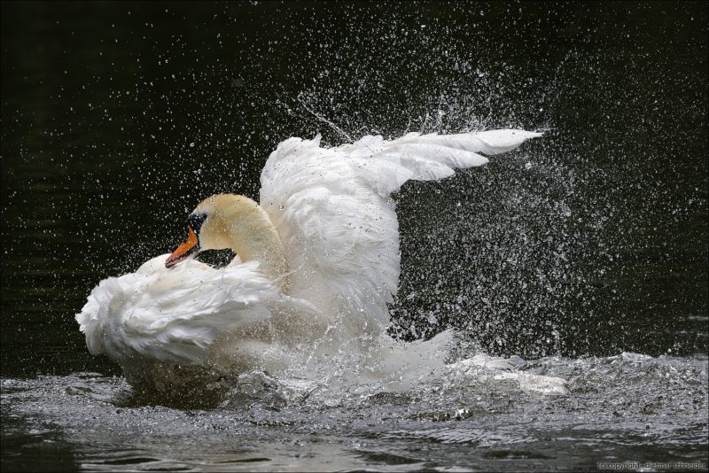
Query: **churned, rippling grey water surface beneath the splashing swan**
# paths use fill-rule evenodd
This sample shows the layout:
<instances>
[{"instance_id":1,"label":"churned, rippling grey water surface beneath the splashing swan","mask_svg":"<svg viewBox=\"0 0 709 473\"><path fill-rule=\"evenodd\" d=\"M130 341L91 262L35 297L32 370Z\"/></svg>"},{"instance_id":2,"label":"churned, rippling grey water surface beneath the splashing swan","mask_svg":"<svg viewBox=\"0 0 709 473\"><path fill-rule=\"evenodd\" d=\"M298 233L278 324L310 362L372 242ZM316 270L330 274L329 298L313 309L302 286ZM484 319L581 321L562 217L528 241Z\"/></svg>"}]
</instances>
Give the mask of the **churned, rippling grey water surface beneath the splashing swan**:
<instances>
[{"instance_id":1,"label":"churned, rippling grey water surface beneath the splashing swan","mask_svg":"<svg viewBox=\"0 0 709 473\"><path fill-rule=\"evenodd\" d=\"M478 354L408 389L342 379L245 373L211 409L146 404L122 377L4 379L4 444L55 442L82 468L111 470L569 469L659 454L706 461L705 355L505 362Z\"/></svg>"}]
</instances>

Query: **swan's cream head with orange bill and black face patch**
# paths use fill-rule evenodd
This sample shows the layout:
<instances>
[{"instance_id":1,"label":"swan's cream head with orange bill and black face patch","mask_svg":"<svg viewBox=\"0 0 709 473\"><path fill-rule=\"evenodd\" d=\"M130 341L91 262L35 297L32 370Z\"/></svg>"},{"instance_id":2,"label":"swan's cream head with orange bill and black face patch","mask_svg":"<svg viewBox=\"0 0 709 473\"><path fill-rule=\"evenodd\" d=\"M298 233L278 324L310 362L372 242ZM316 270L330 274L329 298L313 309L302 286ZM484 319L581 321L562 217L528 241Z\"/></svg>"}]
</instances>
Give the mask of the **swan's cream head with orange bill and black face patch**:
<instances>
[{"instance_id":1,"label":"swan's cream head with orange bill and black face patch","mask_svg":"<svg viewBox=\"0 0 709 473\"><path fill-rule=\"evenodd\" d=\"M235 216L242 213L243 199L247 198L222 194L197 205L187 217L183 243L168 257L165 266L172 268L203 250L230 248L230 227L238 222Z\"/></svg>"}]
</instances>

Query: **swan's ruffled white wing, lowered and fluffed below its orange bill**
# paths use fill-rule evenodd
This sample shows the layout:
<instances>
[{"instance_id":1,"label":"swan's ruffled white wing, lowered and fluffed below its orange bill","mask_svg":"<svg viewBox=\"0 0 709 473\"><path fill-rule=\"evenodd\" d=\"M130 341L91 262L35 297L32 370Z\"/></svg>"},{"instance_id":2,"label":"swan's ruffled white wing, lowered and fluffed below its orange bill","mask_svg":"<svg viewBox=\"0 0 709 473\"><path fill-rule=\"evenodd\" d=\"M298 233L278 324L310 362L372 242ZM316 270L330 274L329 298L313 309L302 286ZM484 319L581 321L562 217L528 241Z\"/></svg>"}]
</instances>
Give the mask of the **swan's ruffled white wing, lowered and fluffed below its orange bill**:
<instances>
[{"instance_id":1,"label":"swan's ruffled white wing, lowered and fluffed below its orange bill","mask_svg":"<svg viewBox=\"0 0 709 473\"><path fill-rule=\"evenodd\" d=\"M251 262L216 270L196 260L165 268L162 255L135 273L109 277L76 315L90 353L121 365L197 363L220 329L269 316L277 290Z\"/></svg>"}]
</instances>

